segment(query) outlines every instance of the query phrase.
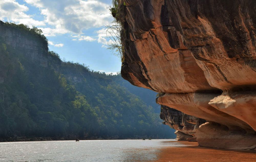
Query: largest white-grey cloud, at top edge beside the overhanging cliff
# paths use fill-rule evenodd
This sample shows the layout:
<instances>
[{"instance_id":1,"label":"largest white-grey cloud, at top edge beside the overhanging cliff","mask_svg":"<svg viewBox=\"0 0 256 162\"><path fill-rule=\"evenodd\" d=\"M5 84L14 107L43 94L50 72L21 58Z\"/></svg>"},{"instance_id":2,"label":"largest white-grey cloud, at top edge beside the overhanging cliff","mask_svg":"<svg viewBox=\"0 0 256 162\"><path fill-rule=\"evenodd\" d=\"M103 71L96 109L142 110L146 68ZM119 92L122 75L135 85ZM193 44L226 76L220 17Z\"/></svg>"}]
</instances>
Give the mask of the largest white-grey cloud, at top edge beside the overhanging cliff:
<instances>
[{"instance_id":1,"label":"largest white-grey cloud, at top edge beside the overhanging cliff","mask_svg":"<svg viewBox=\"0 0 256 162\"><path fill-rule=\"evenodd\" d=\"M45 22L58 30L82 34L83 29L101 27L112 21L109 5L99 0L25 0L38 7Z\"/></svg>"}]
</instances>

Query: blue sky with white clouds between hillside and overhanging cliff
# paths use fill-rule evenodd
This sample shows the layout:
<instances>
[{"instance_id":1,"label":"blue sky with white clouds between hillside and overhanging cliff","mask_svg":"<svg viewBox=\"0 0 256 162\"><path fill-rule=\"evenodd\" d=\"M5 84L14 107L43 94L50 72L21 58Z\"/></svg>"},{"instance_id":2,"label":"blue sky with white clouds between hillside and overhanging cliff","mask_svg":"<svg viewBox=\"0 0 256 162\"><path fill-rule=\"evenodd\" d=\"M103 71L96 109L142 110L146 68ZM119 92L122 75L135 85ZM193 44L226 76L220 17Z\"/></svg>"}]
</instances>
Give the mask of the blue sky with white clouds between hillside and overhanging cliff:
<instances>
[{"instance_id":1,"label":"blue sky with white clouds between hillside and overhanging cliff","mask_svg":"<svg viewBox=\"0 0 256 162\"><path fill-rule=\"evenodd\" d=\"M110 5L111 0L0 0L0 19L41 29L49 50L66 61L115 73L121 60L107 49Z\"/></svg>"}]
</instances>

